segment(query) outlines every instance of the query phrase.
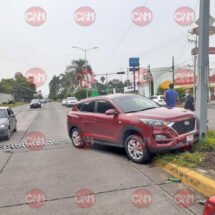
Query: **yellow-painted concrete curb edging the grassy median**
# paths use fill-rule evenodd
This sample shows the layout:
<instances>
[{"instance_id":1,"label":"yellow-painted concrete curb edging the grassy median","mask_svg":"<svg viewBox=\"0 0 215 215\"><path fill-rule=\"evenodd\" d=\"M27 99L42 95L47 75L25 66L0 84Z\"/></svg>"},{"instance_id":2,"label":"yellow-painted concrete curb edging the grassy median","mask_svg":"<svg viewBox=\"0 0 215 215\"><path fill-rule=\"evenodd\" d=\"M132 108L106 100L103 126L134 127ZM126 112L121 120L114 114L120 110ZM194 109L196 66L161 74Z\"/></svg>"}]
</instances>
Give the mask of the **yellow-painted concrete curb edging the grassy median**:
<instances>
[{"instance_id":1,"label":"yellow-painted concrete curb edging the grassy median","mask_svg":"<svg viewBox=\"0 0 215 215\"><path fill-rule=\"evenodd\" d=\"M191 169L179 167L172 163L155 161L155 165L165 172L168 172L170 175L181 179L184 184L194 188L199 193L207 197L215 195L215 180L207 178Z\"/></svg>"}]
</instances>

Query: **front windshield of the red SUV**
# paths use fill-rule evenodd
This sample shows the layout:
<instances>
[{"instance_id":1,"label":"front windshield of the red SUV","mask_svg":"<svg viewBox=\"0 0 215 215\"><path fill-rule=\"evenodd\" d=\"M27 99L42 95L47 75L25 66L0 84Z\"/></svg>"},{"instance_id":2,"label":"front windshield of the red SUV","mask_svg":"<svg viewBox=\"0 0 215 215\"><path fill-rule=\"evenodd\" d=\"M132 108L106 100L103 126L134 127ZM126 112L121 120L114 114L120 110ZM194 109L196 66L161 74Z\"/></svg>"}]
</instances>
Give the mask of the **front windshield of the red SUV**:
<instances>
[{"instance_id":1,"label":"front windshield of the red SUV","mask_svg":"<svg viewBox=\"0 0 215 215\"><path fill-rule=\"evenodd\" d=\"M139 95L128 95L113 99L124 113L144 111L159 107L155 102Z\"/></svg>"}]
</instances>

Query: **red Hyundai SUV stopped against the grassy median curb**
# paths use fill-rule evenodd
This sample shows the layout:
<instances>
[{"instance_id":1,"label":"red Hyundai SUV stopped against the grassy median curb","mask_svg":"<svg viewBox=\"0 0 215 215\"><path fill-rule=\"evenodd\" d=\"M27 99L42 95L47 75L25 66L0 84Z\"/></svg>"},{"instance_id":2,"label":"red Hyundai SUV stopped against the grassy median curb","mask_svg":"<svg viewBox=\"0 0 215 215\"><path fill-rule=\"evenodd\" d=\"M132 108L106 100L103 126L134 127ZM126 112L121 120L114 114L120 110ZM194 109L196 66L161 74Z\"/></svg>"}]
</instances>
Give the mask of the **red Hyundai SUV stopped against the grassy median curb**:
<instances>
[{"instance_id":1,"label":"red Hyundai SUV stopped against the grassy median curb","mask_svg":"<svg viewBox=\"0 0 215 215\"><path fill-rule=\"evenodd\" d=\"M85 99L67 115L77 148L93 143L123 147L129 159L145 163L152 154L189 148L198 141L194 113L168 109L141 95L113 94Z\"/></svg>"}]
</instances>

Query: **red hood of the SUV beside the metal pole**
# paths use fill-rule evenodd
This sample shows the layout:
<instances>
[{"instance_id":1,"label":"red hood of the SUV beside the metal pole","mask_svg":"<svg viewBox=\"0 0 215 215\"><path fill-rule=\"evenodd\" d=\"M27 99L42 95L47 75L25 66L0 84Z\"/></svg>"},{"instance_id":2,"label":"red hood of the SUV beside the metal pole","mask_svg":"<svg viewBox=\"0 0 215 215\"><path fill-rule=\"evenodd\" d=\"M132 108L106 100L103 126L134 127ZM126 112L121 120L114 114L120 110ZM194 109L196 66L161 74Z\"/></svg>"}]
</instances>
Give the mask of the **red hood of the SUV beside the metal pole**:
<instances>
[{"instance_id":1,"label":"red hood of the SUV beside the metal pole","mask_svg":"<svg viewBox=\"0 0 215 215\"><path fill-rule=\"evenodd\" d=\"M128 113L126 115L129 117L135 117L137 119L158 119L168 122L182 121L195 116L193 112L185 110L183 108L169 109L166 107L159 107L135 113Z\"/></svg>"}]
</instances>

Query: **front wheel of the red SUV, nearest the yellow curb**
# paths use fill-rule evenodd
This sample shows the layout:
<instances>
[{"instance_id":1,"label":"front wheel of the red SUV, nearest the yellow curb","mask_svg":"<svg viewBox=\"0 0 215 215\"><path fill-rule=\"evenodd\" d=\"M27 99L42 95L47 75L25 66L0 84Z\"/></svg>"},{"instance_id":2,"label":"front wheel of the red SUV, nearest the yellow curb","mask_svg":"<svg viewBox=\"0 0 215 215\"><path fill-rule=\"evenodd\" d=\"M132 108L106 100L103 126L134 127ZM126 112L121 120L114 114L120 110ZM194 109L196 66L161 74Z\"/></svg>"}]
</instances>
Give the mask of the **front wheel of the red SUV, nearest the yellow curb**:
<instances>
[{"instance_id":1,"label":"front wheel of the red SUV, nearest the yellow curb","mask_svg":"<svg viewBox=\"0 0 215 215\"><path fill-rule=\"evenodd\" d=\"M151 154L140 135L128 136L125 140L125 150L128 158L135 163L146 163L151 159Z\"/></svg>"}]
</instances>

